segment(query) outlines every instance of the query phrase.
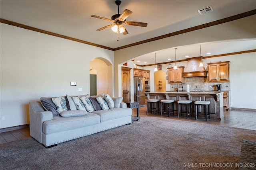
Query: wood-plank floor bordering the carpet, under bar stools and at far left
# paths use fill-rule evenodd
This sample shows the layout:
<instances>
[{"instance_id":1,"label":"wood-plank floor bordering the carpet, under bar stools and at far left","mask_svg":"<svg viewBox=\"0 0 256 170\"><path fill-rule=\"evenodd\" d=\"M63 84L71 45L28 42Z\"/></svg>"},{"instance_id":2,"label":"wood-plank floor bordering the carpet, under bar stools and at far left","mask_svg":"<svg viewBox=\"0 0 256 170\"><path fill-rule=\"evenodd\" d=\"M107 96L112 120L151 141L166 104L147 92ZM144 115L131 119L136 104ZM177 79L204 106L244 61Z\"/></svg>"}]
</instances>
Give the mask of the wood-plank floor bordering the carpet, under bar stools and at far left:
<instances>
[{"instance_id":1,"label":"wood-plank floor bordering the carpet, under bar stools and at far left","mask_svg":"<svg viewBox=\"0 0 256 170\"><path fill-rule=\"evenodd\" d=\"M168 117L168 114L160 116L159 114L153 115L153 113L149 113L146 115L146 106L139 107L140 111L140 117L161 117L163 119L176 119L176 120L182 120L182 121L194 121L199 123L208 123L208 124L214 124L214 125L220 125L220 126L228 126L228 127L237 127L242 129L250 129L250 130L256 130L256 112L255 111L241 111L241 110L232 110L232 111L224 111L224 118L221 120L215 120L215 119L208 119L206 121L205 116L199 116L197 120L195 120L194 117L190 117L186 119L186 117L180 117L178 118L176 114L174 116L170 114L170 117ZM132 109L132 115L136 115L136 109ZM1 140L0 144L17 141L20 139L25 139L27 137L30 137L29 134L29 127L18 129L14 131L8 131L0 133Z\"/></svg>"}]
</instances>

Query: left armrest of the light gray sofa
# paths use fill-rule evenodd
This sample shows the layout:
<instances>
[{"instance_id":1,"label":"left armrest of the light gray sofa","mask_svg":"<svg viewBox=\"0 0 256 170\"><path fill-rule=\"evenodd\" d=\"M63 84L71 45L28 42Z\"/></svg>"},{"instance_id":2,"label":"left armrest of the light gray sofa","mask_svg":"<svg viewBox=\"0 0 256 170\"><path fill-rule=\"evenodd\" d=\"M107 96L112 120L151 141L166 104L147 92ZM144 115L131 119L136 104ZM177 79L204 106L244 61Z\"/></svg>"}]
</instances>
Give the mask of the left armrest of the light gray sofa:
<instances>
[{"instance_id":1,"label":"left armrest of the light gray sofa","mask_svg":"<svg viewBox=\"0 0 256 170\"><path fill-rule=\"evenodd\" d=\"M29 128L30 136L36 139L39 143L42 143L43 123L44 121L52 120L53 115L51 111L38 111L38 107L40 107L39 103L29 103Z\"/></svg>"}]
</instances>

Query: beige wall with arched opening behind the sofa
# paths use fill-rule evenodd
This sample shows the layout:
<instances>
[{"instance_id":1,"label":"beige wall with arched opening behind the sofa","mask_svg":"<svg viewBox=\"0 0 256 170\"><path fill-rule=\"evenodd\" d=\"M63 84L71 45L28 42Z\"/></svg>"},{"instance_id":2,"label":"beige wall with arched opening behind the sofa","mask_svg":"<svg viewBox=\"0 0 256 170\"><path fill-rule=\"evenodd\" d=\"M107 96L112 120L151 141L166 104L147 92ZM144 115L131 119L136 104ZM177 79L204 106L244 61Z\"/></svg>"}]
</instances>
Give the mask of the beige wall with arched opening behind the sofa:
<instances>
[{"instance_id":1,"label":"beige wall with arched opening behind the sofa","mask_svg":"<svg viewBox=\"0 0 256 170\"><path fill-rule=\"evenodd\" d=\"M113 82L113 51L3 23L0 26L0 116L6 117L0 119L1 129L28 124L28 103L42 96L90 93L90 61L94 58L107 63ZM112 92L111 83L108 87Z\"/></svg>"}]
</instances>

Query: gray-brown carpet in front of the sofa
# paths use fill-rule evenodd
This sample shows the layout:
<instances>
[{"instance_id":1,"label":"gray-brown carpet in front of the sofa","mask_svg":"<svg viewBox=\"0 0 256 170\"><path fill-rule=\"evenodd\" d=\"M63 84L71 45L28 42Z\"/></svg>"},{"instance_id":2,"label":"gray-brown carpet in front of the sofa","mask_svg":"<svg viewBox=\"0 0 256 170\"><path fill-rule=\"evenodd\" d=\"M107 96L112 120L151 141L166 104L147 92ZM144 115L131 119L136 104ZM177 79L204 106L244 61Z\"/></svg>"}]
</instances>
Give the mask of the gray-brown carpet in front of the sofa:
<instances>
[{"instance_id":1,"label":"gray-brown carpet in front of the sofa","mask_svg":"<svg viewBox=\"0 0 256 170\"><path fill-rule=\"evenodd\" d=\"M238 170L243 139L256 141L256 131L142 117L50 149L32 138L2 144L0 169Z\"/></svg>"}]
</instances>

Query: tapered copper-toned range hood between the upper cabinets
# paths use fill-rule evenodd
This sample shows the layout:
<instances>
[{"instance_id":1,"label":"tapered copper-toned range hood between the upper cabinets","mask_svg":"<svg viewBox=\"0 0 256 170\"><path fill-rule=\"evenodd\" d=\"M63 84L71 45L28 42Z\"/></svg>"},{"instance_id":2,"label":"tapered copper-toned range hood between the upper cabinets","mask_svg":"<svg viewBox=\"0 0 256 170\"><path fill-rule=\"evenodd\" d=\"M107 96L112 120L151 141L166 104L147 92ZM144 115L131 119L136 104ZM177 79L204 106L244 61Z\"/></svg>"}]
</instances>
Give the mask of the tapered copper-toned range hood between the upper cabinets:
<instances>
[{"instance_id":1,"label":"tapered copper-toned range hood between the upper cabinets","mask_svg":"<svg viewBox=\"0 0 256 170\"><path fill-rule=\"evenodd\" d=\"M183 77L206 77L207 71L204 66L200 67L201 57L188 59L188 65L183 72Z\"/></svg>"}]
</instances>

